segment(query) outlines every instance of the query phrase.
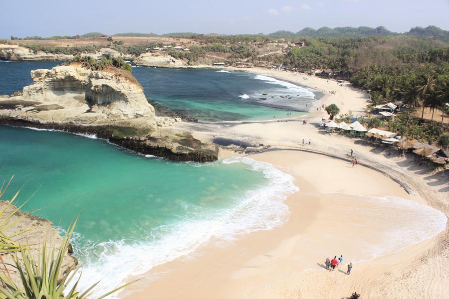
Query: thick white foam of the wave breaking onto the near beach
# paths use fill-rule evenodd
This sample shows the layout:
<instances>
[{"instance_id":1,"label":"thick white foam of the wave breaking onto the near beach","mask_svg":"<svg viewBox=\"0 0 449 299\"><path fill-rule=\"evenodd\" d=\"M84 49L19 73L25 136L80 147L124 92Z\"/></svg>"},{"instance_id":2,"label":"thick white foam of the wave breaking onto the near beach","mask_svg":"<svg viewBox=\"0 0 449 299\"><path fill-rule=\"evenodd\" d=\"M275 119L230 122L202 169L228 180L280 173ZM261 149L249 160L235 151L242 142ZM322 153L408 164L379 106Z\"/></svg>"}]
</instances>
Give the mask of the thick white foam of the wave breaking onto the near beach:
<instances>
[{"instance_id":1,"label":"thick white foam of the wave breaking onto the near beach","mask_svg":"<svg viewBox=\"0 0 449 299\"><path fill-rule=\"evenodd\" d=\"M154 241L129 244L109 241L94 245L89 250L101 252L96 262L83 267L80 289L103 280L98 295L121 284L127 277L140 275L151 268L188 255L211 240L233 240L237 235L256 230L268 230L284 224L290 215L283 203L287 195L298 190L293 177L273 165L247 157L232 157L214 163L196 164L198 167L245 163L254 171L262 171L269 183L261 189L249 190L233 208L223 212L201 214L198 207L187 207L196 217L180 223L158 227L150 232ZM162 234L161 234L162 232Z\"/></svg>"}]
</instances>

